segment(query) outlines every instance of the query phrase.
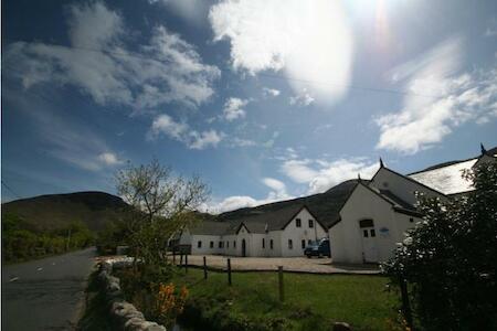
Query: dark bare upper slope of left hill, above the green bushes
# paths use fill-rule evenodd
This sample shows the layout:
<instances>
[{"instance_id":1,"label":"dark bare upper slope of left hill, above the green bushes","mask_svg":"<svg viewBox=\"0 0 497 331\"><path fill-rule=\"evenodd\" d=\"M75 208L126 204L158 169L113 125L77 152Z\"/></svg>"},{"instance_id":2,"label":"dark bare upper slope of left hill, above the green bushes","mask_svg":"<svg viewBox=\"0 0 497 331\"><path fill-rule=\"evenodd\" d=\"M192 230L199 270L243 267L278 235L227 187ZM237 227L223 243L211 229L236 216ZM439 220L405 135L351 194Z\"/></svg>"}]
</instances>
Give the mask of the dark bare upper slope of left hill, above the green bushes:
<instances>
[{"instance_id":1,"label":"dark bare upper slope of left hill, above the green bushes","mask_svg":"<svg viewBox=\"0 0 497 331\"><path fill-rule=\"evenodd\" d=\"M76 192L40 195L2 204L2 218L7 214L21 217L33 232L52 232L71 222L82 222L93 232L121 218L126 204L120 197L104 192Z\"/></svg>"}]
</instances>

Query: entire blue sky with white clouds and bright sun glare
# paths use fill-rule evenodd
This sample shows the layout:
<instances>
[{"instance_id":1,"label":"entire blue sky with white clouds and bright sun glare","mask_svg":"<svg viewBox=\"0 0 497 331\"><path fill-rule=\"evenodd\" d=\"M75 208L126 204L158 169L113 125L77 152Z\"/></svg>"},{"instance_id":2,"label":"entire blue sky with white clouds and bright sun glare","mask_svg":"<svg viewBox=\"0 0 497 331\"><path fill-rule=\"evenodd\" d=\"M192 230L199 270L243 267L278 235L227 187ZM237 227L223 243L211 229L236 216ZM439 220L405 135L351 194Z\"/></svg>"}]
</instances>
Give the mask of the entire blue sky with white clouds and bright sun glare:
<instances>
[{"instance_id":1,"label":"entire blue sky with white clouds and bright sun glare","mask_svg":"<svg viewBox=\"0 0 497 331\"><path fill-rule=\"evenodd\" d=\"M3 1L2 202L157 158L219 213L497 146L497 2Z\"/></svg>"}]
</instances>

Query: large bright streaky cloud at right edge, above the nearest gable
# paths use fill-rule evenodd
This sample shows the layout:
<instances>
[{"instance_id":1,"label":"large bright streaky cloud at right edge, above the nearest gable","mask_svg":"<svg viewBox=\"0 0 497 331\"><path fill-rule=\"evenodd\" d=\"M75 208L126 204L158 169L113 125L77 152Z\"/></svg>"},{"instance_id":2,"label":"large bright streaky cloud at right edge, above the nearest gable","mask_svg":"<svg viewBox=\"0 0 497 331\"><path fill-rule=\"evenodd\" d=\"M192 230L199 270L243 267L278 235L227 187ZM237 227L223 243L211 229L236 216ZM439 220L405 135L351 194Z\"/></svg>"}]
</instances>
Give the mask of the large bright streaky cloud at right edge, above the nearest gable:
<instances>
[{"instance_id":1,"label":"large bright streaky cloud at right edge, above the nearest gable","mask_svg":"<svg viewBox=\"0 0 497 331\"><path fill-rule=\"evenodd\" d=\"M410 94L400 111L376 120L377 148L415 153L470 119L484 122L494 116L497 70L458 74L461 54L461 39L452 38L393 71L393 79L406 81Z\"/></svg>"}]
</instances>

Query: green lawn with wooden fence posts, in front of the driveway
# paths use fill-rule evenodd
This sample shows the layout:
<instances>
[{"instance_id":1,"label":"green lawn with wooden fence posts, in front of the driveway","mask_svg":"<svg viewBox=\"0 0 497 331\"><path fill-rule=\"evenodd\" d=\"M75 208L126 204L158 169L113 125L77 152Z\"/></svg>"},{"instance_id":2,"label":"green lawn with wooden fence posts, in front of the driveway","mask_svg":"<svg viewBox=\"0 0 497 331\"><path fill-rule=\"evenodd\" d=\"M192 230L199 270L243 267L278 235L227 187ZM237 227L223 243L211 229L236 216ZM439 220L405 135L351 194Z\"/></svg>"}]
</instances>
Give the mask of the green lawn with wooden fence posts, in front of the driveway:
<instances>
[{"instance_id":1,"label":"green lawn with wooden fence posts, in front of the driveway","mask_svg":"<svg viewBox=\"0 0 497 331\"><path fill-rule=\"evenodd\" d=\"M285 273L284 302L277 277L232 273L229 287L225 273L209 271L204 280L201 269L178 269L172 282L190 291L180 322L201 330L330 330L335 321L353 330L401 330L398 295L387 291L385 277Z\"/></svg>"}]
</instances>

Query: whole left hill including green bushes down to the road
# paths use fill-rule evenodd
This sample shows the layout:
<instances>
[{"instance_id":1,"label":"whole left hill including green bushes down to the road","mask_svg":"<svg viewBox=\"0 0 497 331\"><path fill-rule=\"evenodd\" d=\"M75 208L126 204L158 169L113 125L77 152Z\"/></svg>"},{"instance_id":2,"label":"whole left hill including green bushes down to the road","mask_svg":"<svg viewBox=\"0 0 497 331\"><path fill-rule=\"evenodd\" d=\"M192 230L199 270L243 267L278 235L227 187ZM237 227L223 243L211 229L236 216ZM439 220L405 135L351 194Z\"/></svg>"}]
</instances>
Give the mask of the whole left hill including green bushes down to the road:
<instances>
[{"instance_id":1,"label":"whole left hill including green bushes down to the road","mask_svg":"<svg viewBox=\"0 0 497 331\"><path fill-rule=\"evenodd\" d=\"M41 195L2 204L2 261L15 263L95 244L129 209L103 192Z\"/></svg>"}]
</instances>

